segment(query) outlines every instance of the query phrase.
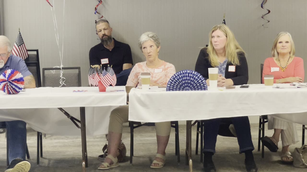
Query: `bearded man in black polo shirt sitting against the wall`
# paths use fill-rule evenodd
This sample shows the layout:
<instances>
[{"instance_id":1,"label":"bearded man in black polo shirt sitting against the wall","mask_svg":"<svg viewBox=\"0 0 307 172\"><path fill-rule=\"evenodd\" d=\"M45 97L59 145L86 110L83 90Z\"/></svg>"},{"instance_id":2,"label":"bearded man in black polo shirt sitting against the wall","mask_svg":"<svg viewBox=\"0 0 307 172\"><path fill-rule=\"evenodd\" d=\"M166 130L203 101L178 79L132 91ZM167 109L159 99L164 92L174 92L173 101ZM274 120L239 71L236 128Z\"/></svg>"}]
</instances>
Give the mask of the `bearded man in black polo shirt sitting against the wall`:
<instances>
[{"instance_id":1,"label":"bearded man in black polo shirt sitting against the wall","mask_svg":"<svg viewBox=\"0 0 307 172\"><path fill-rule=\"evenodd\" d=\"M91 48L90 65L101 64L102 69L112 65L117 77L116 85L126 85L133 65L130 46L112 38L112 28L107 20L97 21L96 34L101 43Z\"/></svg>"}]
</instances>

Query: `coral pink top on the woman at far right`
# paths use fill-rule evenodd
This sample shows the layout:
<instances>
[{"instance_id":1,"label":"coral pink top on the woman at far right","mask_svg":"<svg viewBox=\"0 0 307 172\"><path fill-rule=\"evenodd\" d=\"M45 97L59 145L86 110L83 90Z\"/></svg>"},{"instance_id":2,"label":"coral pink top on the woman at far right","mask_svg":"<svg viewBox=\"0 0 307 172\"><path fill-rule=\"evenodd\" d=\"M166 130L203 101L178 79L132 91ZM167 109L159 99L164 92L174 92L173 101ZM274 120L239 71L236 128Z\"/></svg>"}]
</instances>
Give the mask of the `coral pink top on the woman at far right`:
<instances>
[{"instance_id":1,"label":"coral pink top on the woman at far right","mask_svg":"<svg viewBox=\"0 0 307 172\"><path fill-rule=\"evenodd\" d=\"M274 83L279 79L288 77L301 77L304 81L305 71L303 59L294 57L292 62L288 64L287 69L282 72L273 57L266 58L263 64L262 83L264 83L264 75L274 75Z\"/></svg>"}]
</instances>

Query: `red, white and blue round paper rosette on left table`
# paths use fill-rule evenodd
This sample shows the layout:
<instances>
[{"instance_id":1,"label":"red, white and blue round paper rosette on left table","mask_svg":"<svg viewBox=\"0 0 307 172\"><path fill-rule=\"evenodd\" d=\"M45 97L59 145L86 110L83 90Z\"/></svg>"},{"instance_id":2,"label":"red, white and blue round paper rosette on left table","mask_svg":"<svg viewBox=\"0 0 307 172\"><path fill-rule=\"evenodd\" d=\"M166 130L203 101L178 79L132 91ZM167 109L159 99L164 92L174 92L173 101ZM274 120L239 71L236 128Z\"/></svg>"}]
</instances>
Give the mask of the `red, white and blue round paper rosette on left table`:
<instances>
[{"instance_id":1,"label":"red, white and blue round paper rosette on left table","mask_svg":"<svg viewBox=\"0 0 307 172\"><path fill-rule=\"evenodd\" d=\"M24 86L25 80L17 70L8 69L0 76L0 89L6 94L18 94Z\"/></svg>"}]
</instances>

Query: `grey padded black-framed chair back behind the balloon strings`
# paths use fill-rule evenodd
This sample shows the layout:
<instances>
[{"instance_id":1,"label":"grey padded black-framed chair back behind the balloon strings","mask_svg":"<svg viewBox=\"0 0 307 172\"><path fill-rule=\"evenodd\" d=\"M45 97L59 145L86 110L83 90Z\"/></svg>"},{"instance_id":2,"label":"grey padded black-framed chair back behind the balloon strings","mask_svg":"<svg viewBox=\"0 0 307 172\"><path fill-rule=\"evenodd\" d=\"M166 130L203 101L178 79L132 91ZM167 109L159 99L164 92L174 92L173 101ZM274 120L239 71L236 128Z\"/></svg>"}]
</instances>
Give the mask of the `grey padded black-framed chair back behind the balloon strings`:
<instances>
[{"instance_id":1,"label":"grey padded black-framed chair back behind the balloon strings","mask_svg":"<svg viewBox=\"0 0 307 172\"><path fill-rule=\"evenodd\" d=\"M54 73L52 71L54 70ZM43 68L43 87L59 87L61 68ZM62 87L81 87L80 67L62 67L65 82Z\"/></svg>"}]
</instances>

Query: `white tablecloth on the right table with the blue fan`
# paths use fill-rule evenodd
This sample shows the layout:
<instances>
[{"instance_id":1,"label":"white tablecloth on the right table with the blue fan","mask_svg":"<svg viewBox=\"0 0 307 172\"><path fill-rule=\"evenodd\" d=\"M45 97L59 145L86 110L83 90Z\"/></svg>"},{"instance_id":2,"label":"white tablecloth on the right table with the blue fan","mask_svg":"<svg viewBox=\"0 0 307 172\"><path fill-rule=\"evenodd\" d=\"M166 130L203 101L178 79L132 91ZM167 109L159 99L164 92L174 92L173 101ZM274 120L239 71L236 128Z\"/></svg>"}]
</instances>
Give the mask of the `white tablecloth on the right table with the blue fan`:
<instances>
[{"instance_id":1,"label":"white tablecloth on the right table with the blue fan","mask_svg":"<svg viewBox=\"0 0 307 172\"><path fill-rule=\"evenodd\" d=\"M238 116L259 116L307 112L307 88L267 88L251 84L250 88L208 91L143 91L129 93L129 120L165 122L205 120ZM277 115L278 116L278 115ZM304 114L292 115L294 120L307 125ZM290 119L290 118L289 118ZM287 120L289 120L287 119Z\"/></svg>"}]
</instances>

